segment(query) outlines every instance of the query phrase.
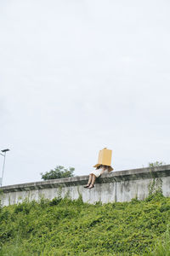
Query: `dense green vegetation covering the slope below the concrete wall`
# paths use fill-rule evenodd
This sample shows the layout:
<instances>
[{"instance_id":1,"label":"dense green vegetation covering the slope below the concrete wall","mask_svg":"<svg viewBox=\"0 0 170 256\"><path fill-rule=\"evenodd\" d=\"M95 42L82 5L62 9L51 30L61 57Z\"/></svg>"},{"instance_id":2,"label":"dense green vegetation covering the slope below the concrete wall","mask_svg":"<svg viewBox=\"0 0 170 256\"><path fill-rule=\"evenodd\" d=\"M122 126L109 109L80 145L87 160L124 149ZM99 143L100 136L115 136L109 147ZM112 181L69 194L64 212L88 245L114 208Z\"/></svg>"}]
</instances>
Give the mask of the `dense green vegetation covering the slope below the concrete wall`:
<instances>
[{"instance_id":1,"label":"dense green vegetation covering the slope below the concrete wall","mask_svg":"<svg viewBox=\"0 0 170 256\"><path fill-rule=\"evenodd\" d=\"M0 255L170 255L170 198L89 205L24 201L0 209Z\"/></svg>"}]
</instances>

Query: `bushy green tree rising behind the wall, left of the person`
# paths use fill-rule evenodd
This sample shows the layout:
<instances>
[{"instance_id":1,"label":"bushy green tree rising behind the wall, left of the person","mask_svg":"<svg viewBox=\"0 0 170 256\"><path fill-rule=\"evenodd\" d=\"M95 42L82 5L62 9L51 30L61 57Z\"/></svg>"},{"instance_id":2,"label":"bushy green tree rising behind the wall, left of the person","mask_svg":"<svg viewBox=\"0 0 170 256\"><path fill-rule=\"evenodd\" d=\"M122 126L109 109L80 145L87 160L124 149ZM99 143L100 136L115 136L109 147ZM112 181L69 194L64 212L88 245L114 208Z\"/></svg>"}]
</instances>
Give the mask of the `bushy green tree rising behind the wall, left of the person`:
<instances>
[{"instance_id":1,"label":"bushy green tree rising behind the wall, left of the person","mask_svg":"<svg viewBox=\"0 0 170 256\"><path fill-rule=\"evenodd\" d=\"M56 166L54 170L51 170L50 172L45 172L44 174L41 172L43 180L48 179L55 179L55 178L62 178L62 177L73 177L73 172L75 171L75 168L69 167L69 169L66 169L64 166Z\"/></svg>"}]
</instances>

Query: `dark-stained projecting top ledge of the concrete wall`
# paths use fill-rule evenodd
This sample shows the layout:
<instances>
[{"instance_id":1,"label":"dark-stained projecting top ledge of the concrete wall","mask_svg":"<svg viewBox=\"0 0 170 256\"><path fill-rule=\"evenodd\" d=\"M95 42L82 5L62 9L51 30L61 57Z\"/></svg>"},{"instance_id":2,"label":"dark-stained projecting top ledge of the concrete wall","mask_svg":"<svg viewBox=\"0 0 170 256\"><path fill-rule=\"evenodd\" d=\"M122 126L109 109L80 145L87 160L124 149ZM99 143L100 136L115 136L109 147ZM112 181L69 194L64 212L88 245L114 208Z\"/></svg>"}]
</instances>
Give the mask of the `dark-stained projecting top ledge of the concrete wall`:
<instances>
[{"instance_id":1,"label":"dark-stained projecting top ledge of the concrete wall","mask_svg":"<svg viewBox=\"0 0 170 256\"><path fill-rule=\"evenodd\" d=\"M170 165L158 166L152 168L140 168L132 169L118 172L111 172L103 174L101 177L96 179L96 183L111 183L111 182L121 182L127 180L137 180L153 177L167 177L170 176ZM10 186L3 186L0 191L3 193L8 193L12 191L28 191L34 189L50 189L50 188L60 188L68 186L84 185L88 181L88 175L77 176L77 177L65 177L59 179L51 179L36 183L21 183L14 184Z\"/></svg>"}]
</instances>

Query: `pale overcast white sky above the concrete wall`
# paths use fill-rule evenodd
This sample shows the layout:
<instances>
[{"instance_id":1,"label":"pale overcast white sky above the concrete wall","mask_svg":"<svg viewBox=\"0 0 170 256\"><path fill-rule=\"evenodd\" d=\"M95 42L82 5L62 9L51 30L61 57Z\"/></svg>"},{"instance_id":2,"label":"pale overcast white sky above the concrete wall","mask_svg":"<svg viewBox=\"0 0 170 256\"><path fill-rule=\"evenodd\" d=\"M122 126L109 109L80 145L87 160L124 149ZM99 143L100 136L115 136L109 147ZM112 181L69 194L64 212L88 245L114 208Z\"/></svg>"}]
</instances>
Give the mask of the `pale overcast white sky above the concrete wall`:
<instances>
[{"instance_id":1,"label":"pale overcast white sky above the concrete wall","mask_svg":"<svg viewBox=\"0 0 170 256\"><path fill-rule=\"evenodd\" d=\"M0 1L3 185L170 163L170 2ZM0 155L0 177L3 156Z\"/></svg>"}]
</instances>

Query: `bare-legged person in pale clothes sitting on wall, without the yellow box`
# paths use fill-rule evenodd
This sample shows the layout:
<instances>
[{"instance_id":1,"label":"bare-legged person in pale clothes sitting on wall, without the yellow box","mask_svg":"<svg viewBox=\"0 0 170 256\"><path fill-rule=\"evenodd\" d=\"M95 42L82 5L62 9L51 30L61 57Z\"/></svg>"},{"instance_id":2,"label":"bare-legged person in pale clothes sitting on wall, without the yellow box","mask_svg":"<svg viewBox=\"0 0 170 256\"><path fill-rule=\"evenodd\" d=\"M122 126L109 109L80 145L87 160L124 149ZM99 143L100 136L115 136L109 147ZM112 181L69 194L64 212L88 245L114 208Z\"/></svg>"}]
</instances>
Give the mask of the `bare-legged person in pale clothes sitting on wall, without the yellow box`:
<instances>
[{"instance_id":1,"label":"bare-legged person in pale clothes sitting on wall, without the yellow box","mask_svg":"<svg viewBox=\"0 0 170 256\"><path fill-rule=\"evenodd\" d=\"M84 186L86 189L93 189L96 177L100 177L101 174L111 172L113 168L111 166L100 165L97 166L94 172L89 174L88 184Z\"/></svg>"}]
</instances>

